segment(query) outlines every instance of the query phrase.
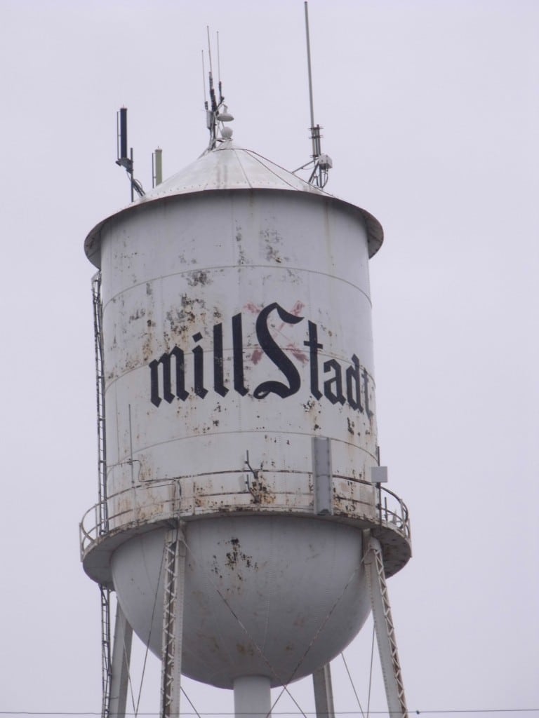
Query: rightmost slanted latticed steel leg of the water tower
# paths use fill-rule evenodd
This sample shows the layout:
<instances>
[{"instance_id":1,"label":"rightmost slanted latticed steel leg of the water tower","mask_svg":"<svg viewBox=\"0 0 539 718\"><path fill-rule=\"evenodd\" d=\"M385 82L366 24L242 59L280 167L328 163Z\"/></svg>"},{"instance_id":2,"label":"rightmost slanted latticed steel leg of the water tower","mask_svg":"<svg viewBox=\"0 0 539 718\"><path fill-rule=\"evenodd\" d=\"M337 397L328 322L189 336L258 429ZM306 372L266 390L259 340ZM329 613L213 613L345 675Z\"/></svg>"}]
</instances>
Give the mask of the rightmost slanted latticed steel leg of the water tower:
<instances>
[{"instance_id":1,"label":"rightmost slanted latticed steel leg of the water tower","mask_svg":"<svg viewBox=\"0 0 539 718\"><path fill-rule=\"evenodd\" d=\"M367 543L364 564L390 718L407 718L405 691L391 616L390 597L387 593L382 547L378 539L372 536Z\"/></svg>"}]
</instances>

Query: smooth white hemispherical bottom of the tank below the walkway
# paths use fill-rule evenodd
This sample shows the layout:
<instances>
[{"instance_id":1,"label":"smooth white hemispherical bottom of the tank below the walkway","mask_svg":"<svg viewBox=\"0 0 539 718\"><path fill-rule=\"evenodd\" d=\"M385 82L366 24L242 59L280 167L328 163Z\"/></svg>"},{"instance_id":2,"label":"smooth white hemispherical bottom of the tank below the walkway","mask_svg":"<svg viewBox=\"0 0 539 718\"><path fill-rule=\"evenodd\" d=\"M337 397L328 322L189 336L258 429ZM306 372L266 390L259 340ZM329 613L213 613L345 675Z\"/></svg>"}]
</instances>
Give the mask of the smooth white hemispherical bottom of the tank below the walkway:
<instances>
[{"instance_id":1,"label":"smooth white hemispherical bottom of the tank below the walkway","mask_svg":"<svg viewBox=\"0 0 539 718\"><path fill-rule=\"evenodd\" d=\"M161 655L166 528L111 559L135 633ZM315 518L226 516L185 524L182 673L231 689L242 676L295 681L341 653L370 610L361 530Z\"/></svg>"}]
</instances>

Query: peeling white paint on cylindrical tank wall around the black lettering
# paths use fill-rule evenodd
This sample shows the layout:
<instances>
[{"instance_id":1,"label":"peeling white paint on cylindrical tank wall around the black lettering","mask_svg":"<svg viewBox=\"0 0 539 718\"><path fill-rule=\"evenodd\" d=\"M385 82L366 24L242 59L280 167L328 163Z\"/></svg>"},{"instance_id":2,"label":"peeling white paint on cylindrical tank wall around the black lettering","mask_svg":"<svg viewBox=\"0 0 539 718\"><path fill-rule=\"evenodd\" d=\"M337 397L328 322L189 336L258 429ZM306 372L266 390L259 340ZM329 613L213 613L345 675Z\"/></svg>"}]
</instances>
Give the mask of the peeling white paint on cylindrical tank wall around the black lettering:
<instances>
[{"instance_id":1,"label":"peeling white paint on cylindrical tank wall around the black lettering","mask_svg":"<svg viewBox=\"0 0 539 718\"><path fill-rule=\"evenodd\" d=\"M240 152L214 154L230 159L234 175ZM204 167L207 158L200 161ZM218 174L226 176L228 167L221 162ZM99 242L108 485L109 495L121 494L109 506L111 516L120 515L112 528L126 523L137 503L133 484L143 485L145 503L152 503L147 518L156 518L160 502L170 501L172 480L181 485L183 516L251 507L248 480L253 483L254 475L246 467L247 452L260 470L264 496L257 503L270 510L310 511L312 435L332 441L333 473L349 482L335 487L348 506L345 513L369 513L374 493L359 480L368 481L376 463L377 438L369 251L361 212L319 192L198 192L122 213L101 227ZM289 381L257 337L259 313L275 303L298 317L297 324L288 323L274 309L267 325L300 376L300 389L287 398L270 393L259 399L255 389L264 381L283 386ZM234 389L231 322L239 314L246 396ZM315 361L305 345L309 322L321 345ZM222 332L226 396L213 386L216 325ZM204 398L195 394L195 347L203 350ZM155 406L149 365L175 348L184 353L188 396L165 401L160 365ZM361 365L360 396L367 386L361 410L344 401L353 357ZM336 365L325 372L326 361ZM321 393L338 371L344 404L313 396L314 363ZM173 358L171 371L172 391L179 393ZM337 385L332 386L334 394ZM356 390L353 384L350 391Z\"/></svg>"}]
</instances>

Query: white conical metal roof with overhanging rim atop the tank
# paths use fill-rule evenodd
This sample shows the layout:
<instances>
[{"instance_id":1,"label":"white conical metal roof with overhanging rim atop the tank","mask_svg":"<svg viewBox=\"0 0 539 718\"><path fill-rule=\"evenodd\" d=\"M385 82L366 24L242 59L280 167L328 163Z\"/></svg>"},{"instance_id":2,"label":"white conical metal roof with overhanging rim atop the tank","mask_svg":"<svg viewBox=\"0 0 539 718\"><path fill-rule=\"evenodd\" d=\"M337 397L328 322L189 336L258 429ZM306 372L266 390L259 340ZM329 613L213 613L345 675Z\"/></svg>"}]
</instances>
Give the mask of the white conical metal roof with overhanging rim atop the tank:
<instances>
[{"instance_id":1,"label":"white conical metal roof with overhanging rim atop the tank","mask_svg":"<svg viewBox=\"0 0 539 718\"><path fill-rule=\"evenodd\" d=\"M310 185L287 169L250 149L235 146L230 139L221 141L214 149L206 151L180 172L161 182L143 197L132 202L123 210L101 220L86 237L84 251L96 267L101 267L101 230L114 217L117 218L149 202L168 200L182 195L200 192L270 190L278 192L301 192L304 195L318 195L330 202L346 205L363 218L367 227L369 257L382 246L384 232L379 221L366 210L351 202L338 199L328 192Z\"/></svg>"}]
</instances>

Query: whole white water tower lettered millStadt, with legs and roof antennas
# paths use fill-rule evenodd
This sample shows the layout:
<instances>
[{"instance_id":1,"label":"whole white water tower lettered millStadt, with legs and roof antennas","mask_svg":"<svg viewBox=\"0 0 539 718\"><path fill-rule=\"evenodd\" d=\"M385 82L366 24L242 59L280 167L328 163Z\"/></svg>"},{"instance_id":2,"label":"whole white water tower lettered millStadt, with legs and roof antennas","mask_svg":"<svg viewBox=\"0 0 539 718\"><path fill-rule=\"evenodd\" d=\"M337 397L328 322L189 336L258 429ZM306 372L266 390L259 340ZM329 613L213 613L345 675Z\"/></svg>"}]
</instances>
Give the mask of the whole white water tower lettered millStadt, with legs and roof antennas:
<instances>
[{"instance_id":1,"label":"whole white water tower lettered millStadt, with legs and roof antennas","mask_svg":"<svg viewBox=\"0 0 539 718\"><path fill-rule=\"evenodd\" d=\"M382 228L231 139L211 87L208 150L88 234L100 495L81 523L101 587L103 714L125 711L131 630L180 675L267 716L270 688L313 675L372 609L391 712L406 712L385 577L410 558L407 510L382 485L369 258ZM129 651L127 652L129 653Z\"/></svg>"}]
</instances>

